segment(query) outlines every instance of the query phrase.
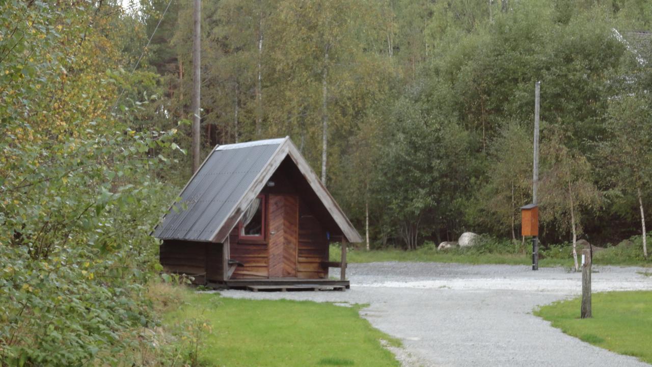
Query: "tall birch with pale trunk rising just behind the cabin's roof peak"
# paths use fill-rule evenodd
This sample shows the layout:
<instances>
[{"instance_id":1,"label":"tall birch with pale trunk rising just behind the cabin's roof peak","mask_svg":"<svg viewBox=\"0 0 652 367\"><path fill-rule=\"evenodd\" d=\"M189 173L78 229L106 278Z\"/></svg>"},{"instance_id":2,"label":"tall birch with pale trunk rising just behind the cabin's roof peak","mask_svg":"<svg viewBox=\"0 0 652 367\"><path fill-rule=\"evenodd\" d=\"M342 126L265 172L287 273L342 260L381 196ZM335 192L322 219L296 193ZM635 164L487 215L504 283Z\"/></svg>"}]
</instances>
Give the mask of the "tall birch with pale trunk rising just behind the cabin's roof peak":
<instances>
[{"instance_id":1,"label":"tall birch with pale trunk rising just behind the cabin's roof peak","mask_svg":"<svg viewBox=\"0 0 652 367\"><path fill-rule=\"evenodd\" d=\"M362 71L368 67L362 40L369 11L368 3L354 0L283 1L270 32L276 80L281 81L278 91L270 92L271 98L278 98L276 119L288 120L297 114L296 108L304 111L308 125L311 120L319 124L324 185L333 124L351 123L349 113L356 112L354 104L359 102L351 93L363 86L360 76L368 74Z\"/></svg>"}]
</instances>

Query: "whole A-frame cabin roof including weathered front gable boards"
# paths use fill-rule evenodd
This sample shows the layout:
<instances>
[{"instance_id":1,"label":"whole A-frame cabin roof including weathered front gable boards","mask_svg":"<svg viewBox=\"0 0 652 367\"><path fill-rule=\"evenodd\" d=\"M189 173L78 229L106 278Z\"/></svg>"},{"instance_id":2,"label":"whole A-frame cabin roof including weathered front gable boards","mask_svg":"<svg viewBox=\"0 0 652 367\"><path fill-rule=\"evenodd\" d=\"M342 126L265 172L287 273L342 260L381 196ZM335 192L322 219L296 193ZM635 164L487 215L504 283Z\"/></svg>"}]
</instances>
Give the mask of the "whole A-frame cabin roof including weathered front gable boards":
<instances>
[{"instance_id":1,"label":"whole A-frame cabin roof including weathered front gable boards","mask_svg":"<svg viewBox=\"0 0 652 367\"><path fill-rule=\"evenodd\" d=\"M154 236L224 242L243 212L289 157L349 242L362 242L342 209L289 137L216 146L181 191ZM186 207L185 209L183 207Z\"/></svg>"}]
</instances>

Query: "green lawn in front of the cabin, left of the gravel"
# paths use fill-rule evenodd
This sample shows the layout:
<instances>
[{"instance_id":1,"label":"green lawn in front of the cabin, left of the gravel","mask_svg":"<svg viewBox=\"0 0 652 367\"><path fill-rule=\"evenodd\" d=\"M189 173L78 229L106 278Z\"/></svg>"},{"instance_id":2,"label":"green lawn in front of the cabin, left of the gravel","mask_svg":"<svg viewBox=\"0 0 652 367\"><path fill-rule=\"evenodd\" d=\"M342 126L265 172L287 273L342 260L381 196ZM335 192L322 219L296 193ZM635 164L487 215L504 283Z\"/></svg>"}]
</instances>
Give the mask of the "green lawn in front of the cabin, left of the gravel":
<instances>
[{"instance_id":1,"label":"green lawn in front of the cabin, left of the gravel","mask_svg":"<svg viewBox=\"0 0 652 367\"><path fill-rule=\"evenodd\" d=\"M372 328L358 310L192 294L165 315L164 323L172 327L195 318L210 322L213 330L201 336L198 352L205 366L398 366L379 340L399 342Z\"/></svg>"}]
</instances>

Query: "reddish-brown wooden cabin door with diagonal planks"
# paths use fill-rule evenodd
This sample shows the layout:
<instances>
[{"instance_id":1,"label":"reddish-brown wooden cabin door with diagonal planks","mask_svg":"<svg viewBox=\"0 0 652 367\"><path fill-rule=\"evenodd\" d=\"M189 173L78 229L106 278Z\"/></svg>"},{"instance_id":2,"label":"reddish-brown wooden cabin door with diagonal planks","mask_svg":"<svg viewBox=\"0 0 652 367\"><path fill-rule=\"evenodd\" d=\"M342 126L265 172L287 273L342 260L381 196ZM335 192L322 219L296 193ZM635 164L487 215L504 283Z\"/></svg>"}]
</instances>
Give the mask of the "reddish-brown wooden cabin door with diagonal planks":
<instances>
[{"instance_id":1,"label":"reddish-brown wooden cabin door with diagonal planks","mask_svg":"<svg viewBox=\"0 0 652 367\"><path fill-rule=\"evenodd\" d=\"M297 277L299 197L269 195L269 278Z\"/></svg>"}]
</instances>

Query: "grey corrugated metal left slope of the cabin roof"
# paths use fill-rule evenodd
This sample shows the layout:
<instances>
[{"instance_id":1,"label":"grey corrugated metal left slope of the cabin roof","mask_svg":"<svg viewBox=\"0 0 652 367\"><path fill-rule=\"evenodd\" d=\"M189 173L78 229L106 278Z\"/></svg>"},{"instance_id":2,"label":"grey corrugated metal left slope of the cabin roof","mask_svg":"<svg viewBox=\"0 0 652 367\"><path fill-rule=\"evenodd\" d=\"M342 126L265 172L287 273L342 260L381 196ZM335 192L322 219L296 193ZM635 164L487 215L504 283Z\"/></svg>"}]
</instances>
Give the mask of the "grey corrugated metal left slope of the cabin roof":
<instances>
[{"instance_id":1,"label":"grey corrugated metal left slope of the cabin roof","mask_svg":"<svg viewBox=\"0 0 652 367\"><path fill-rule=\"evenodd\" d=\"M160 239L211 241L285 139L217 146L154 231ZM182 204L187 210L181 209Z\"/></svg>"}]
</instances>

